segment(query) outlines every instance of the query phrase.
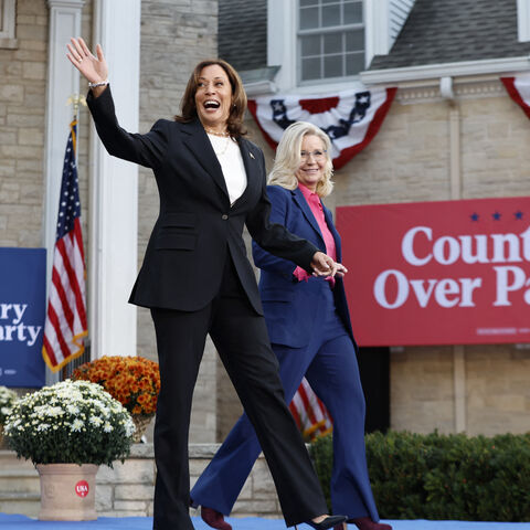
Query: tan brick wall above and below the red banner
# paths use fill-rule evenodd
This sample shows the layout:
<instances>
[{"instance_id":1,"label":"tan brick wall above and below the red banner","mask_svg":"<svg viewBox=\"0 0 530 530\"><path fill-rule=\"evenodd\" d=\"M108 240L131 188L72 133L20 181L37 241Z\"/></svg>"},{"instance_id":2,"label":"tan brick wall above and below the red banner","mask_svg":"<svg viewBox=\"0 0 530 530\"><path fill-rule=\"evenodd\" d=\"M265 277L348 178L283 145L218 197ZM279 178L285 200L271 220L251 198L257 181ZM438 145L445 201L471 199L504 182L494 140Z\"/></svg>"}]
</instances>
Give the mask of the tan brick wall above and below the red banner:
<instances>
[{"instance_id":1,"label":"tan brick wall above and below the red banner","mask_svg":"<svg viewBox=\"0 0 530 530\"><path fill-rule=\"evenodd\" d=\"M459 108L463 198L528 195L530 121L520 108L505 94L463 98ZM448 110L394 103L373 142L337 173L333 205L448 200ZM465 348L470 435L530 430L529 358L516 346ZM453 368L449 347L393 352L392 428L454 432Z\"/></svg>"}]
</instances>

